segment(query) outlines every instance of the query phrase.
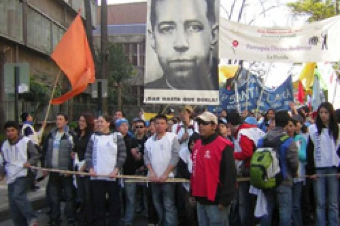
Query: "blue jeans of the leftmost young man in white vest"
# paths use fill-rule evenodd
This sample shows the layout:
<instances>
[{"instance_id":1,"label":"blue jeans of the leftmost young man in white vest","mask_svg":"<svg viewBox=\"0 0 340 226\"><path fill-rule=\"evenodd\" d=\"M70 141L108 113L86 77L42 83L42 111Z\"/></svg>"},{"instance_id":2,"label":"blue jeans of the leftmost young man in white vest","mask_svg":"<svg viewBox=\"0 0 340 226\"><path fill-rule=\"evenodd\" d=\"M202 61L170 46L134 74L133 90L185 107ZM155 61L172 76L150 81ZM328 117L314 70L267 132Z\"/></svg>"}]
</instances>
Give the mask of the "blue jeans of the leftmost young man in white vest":
<instances>
[{"instance_id":1,"label":"blue jeans of the leftmost young man in white vest","mask_svg":"<svg viewBox=\"0 0 340 226\"><path fill-rule=\"evenodd\" d=\"M31 203L27 199L28 178L17 178L8 185L10 213L15 226L27 226L28 222L36 219Z\"/></svg>"}]
</instances>

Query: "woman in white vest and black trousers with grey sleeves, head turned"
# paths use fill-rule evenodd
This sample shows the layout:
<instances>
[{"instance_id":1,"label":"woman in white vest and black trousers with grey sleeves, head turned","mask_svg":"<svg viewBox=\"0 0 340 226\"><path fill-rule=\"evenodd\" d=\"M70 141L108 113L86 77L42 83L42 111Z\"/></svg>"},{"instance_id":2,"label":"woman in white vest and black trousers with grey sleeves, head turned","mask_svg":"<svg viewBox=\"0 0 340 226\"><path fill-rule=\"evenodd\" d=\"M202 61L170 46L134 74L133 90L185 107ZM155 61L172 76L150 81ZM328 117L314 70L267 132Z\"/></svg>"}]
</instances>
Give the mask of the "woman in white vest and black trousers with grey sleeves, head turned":
<instances>
[{"instance_id":1,"label":"woman in white vest and black trousers with grey sleeves, head turned","mask_svg":"<svg viewBox=\"0 0 340 226\"><path fill-rule=\"evenodd\" d=\"M98 133L91 136L86 149L86 165L92 176L90 187L94 207L94 225L106 225L106 197L108 196L108 226L118 226L120 220L119 169L126 159L126 147L118 132L111 132L111 118L98 118Z\"/></svg>"}]
</instances>

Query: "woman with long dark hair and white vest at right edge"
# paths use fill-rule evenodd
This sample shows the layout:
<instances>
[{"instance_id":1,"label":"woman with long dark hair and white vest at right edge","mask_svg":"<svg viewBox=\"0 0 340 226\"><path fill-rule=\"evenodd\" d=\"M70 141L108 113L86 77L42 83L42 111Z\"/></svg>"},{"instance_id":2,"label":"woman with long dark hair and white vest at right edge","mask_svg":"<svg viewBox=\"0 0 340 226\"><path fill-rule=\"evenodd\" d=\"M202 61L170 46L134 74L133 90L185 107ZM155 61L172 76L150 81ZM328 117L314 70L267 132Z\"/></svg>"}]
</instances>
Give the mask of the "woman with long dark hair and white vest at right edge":
<instances>
[{"instance_id":1,"label":"woman with long dark hair and white vest at right edge","mask_svg":"<svg viewBox=\"0 0 340 226\"><path fill-rule=\"evenodd\" d=\"M338 226L338 180L340 158L339 127L334 108L329 102L320 104L315 124L309 127L307 174L314 179L316 225ZM326 208L327 204L327 208Z\"/></svg>"}]
</instances>

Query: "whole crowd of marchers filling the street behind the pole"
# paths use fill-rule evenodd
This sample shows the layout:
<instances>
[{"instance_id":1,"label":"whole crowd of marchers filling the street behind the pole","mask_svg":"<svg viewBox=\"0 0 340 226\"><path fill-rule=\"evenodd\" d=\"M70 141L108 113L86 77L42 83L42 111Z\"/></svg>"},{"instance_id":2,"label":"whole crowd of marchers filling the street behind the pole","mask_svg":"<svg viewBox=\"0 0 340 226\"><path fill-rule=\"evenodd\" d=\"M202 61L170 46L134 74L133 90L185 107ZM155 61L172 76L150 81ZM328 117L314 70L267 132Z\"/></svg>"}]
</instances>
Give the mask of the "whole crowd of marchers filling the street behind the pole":
<instances>
[{"instance_id":1,"label":"whole crowd of marchers filling the street behind the pole","mask_svg":"<svg viewBox=\"0 0 340 226\"><path fill-rule=\"evenodd\" d=\"M315 112L290 107L261 115L186 105L178 115L170 109L172 118L140 115L131 123L117 110L112 118L82 114L74 130L59 113L44 139L24 113L21 129L5 123L0 155L11 217L16 226L38 225L27 190L41 180L31 169L40 161L51 226L61 223L62 202L68 226L129 226L137 214L159 226L339 225L340 111L328 102ZM266 152L272 165L277 158L273 177L259 166Z\"/></svg>"}]
</instances>

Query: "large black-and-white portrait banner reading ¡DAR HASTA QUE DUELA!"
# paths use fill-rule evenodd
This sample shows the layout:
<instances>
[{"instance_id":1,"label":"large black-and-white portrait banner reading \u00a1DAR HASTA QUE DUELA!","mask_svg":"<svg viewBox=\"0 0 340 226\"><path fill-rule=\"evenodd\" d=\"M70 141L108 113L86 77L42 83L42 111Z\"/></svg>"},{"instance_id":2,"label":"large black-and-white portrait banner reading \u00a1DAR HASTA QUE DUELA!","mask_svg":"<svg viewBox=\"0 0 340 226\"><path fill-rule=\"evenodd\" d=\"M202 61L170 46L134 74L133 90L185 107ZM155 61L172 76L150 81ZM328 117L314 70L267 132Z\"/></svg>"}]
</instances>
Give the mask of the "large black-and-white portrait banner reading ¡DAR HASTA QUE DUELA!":
<instances>
[{"instance_id":1,"label":"large black-and-white portrait banner reading \u00a1DAR HASTA QUE DUELA!","mask_svg":"<svg viewBox=\"0 0 340 226\"><path fill-rule=\"evenodd\" d=\"M219 104L220 0L148 0L144 102Z\"/></svg>"}]
</instances>

